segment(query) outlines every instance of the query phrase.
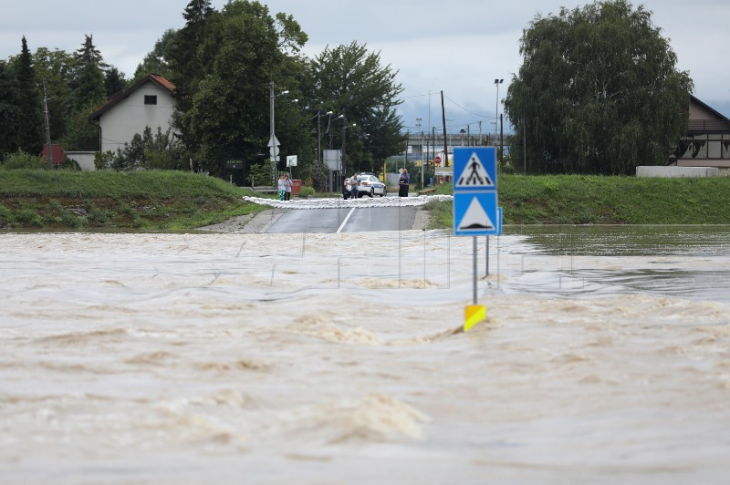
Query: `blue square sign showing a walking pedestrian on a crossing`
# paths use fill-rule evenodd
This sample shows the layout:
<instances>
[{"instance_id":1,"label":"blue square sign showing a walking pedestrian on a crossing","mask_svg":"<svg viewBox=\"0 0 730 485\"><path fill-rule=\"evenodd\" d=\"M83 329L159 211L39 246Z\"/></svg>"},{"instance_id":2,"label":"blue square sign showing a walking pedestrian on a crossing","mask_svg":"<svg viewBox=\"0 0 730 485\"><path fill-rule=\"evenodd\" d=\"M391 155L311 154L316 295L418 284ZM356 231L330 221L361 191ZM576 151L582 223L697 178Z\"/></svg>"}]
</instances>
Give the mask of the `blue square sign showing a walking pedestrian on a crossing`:
<instances>
[{"instance_id":1,"label":"blue square sign showing a walking pedestrian on a crossing","mask_svg":"<svg viewBox=\"0 0 730 485\"><path fill-rule=\"evenodd\" d=\"M454 148L454 193L496 191L495 147Z\"/></svg>"}]
</instances>

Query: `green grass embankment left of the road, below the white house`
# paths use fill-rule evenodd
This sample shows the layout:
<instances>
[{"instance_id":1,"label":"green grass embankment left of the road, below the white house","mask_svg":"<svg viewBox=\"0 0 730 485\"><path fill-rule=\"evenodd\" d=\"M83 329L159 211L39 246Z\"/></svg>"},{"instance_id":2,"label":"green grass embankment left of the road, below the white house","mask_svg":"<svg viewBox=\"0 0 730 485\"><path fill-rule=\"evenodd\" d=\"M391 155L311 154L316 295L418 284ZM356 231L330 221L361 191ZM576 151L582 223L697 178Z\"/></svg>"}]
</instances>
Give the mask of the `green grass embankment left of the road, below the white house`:
<instances>
[{"instance_id":1,"label":"green grass embankment left of the road, below the white house","mask_svg":"<svg viewBox=\"0 0 730 485\"><path fill-rule=\"evenodd\" d=\"M181 171L0 170L0 229L184 231L265 209L251 194Z\"/></svg>"}]
</instances>

